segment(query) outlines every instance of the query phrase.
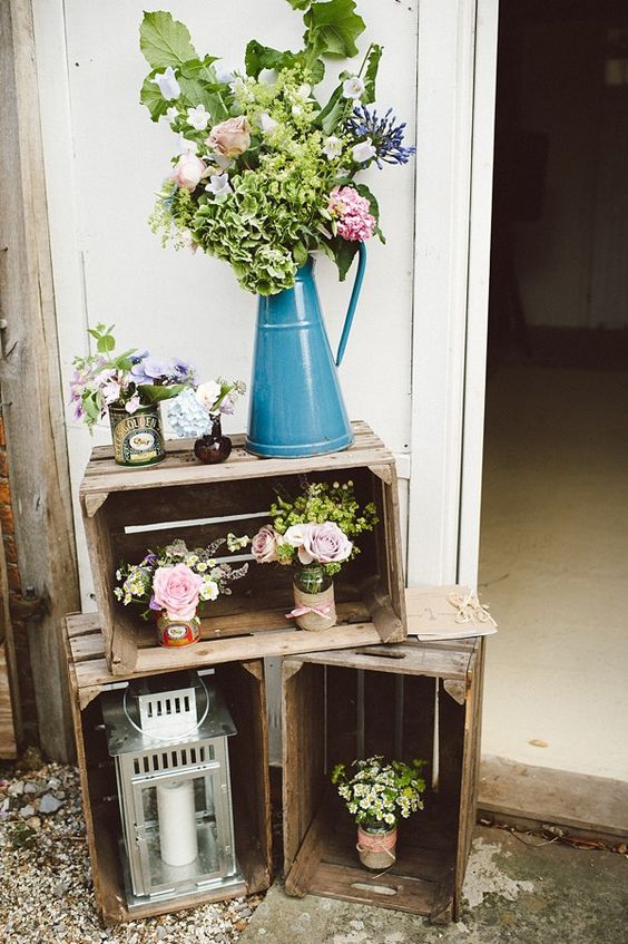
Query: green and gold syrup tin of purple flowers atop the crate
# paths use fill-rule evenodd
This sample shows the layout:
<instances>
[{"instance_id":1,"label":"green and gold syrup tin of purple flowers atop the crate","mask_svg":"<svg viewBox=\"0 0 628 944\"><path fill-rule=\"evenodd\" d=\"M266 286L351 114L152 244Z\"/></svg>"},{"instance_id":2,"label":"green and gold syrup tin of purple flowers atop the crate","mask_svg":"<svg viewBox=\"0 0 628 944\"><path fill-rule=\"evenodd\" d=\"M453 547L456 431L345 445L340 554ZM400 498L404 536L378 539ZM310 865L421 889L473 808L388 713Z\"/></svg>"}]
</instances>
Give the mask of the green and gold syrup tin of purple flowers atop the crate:
<instances>
[{"instance_id":1,"label":"green and gold syrup tin of purple flowers atop the crate","mask_svg":"<svg viewBox=\"0 0 628 944\"><path fill-rule=\"evenodd\" d=\"M135 348L115 354L114 327L91 328L96 353L73 360L73 417L85 420L91 431L109 413L116 463L151 466L166 458L159 402L185 390L194 380L194 369L178 358L166 363Z\"/></svg>"}]
</instances>

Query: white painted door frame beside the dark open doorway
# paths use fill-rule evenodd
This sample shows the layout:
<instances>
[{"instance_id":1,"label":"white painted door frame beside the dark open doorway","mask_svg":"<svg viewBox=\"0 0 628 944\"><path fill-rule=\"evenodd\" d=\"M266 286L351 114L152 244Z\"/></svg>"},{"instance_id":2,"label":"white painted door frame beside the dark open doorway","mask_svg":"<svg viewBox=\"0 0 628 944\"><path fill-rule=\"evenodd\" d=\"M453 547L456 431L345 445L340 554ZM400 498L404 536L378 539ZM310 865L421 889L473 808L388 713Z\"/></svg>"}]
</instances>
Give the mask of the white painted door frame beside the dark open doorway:
<instances>
[{"instance_id":1,"label":"white painted door frame beside the dark open doorway","mask_svg":"<svg viewBox=\"0 0 628 944\"><path fill-rule=\"evenodd\" d=\"M419 8L409 586L478 580L498 8Z\"/></svg>"}]
</instances>

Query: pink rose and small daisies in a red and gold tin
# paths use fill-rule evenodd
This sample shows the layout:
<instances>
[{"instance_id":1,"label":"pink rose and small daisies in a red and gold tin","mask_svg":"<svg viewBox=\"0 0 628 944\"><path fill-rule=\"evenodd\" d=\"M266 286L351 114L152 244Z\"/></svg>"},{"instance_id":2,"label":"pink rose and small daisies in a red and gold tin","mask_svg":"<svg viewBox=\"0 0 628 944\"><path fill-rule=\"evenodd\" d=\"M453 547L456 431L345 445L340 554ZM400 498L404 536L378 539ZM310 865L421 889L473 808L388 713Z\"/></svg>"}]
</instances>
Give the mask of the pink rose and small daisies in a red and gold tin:
<instances>
[{"instance_id":1,"label":"pink rose and small daisies in a red and gold tin","mask_svg":"<svg viewBox=\"0 0 628 944\"><path fill-rule=\"evenodd\" d=\"M189 645L199 639L199 613L220 594L228 595L229 583L244 577L248 564L234 568L215 559L225 538L208 547L189 551L184 541L149 552L139 564L122 563L116 571L116 600L145 604L143 619L158 616L158 639L164 646Z\"/></svg>"}]
</instances>

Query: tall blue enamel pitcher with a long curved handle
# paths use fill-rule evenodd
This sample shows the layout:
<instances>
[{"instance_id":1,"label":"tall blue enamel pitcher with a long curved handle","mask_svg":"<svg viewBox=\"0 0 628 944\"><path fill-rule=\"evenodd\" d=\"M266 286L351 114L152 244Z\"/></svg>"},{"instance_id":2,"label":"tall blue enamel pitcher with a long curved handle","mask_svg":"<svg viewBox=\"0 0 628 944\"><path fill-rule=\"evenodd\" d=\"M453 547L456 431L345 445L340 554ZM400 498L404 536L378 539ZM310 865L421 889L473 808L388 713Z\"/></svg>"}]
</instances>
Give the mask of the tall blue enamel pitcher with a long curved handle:
<instances>
[{"instance_id":1,"label":"tall blue enamel pitcher with a long curved handle","mask_svg":"<svg viewBox=\"0 0 628 944\"><path fill-rule=\"evenodd\" d=\"M253 354L246 449L255 456L300 458L346 449L353 441L340 389L342 362L364 278L359 264L334 361L314 282L312 259L293 289L261 295Z\"/></svg>"}]
</instances>

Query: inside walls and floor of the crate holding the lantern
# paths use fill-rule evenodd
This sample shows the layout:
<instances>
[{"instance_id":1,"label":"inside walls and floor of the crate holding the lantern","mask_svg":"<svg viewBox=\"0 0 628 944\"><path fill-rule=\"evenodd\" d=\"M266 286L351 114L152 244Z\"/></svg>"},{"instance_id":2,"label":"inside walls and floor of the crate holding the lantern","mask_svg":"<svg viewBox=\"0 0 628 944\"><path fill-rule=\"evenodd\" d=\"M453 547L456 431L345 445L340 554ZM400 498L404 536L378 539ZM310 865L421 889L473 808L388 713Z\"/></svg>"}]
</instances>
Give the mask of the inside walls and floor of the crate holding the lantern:
<instances>
[{"instance_id":1,"label":"inside walls and floor of the crate holding the lantern","mask_svg":"<svg viewBox=\"0 0 628 944\"><path fill-rule=\"evenodd\" d=\"M229 663L216 666L216 682L234 718L238 733L229 738L229 766L234 802L236 855L245 882L214 894L205 891L197 902L217 901L234 895L265 891L271 884L269 788L266 756L266 704L262 665ZM107 751L100 701L96 698L80 714L85 745L89 806L88 829L92 830L92 873L97 902L106 924L145 917L165 911L189 907L194 898L174 903L150 903L126 908L122 866L119 854L121 835L116 772ZM96 862L94 862L96 859Z\"/></svg>"}]
</instances>

